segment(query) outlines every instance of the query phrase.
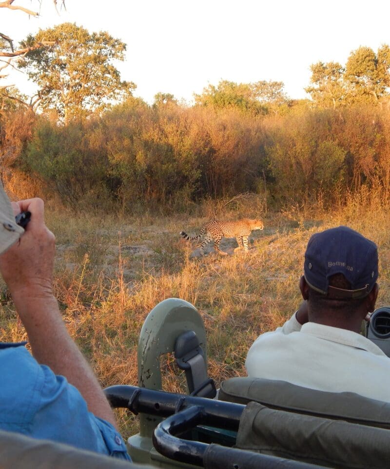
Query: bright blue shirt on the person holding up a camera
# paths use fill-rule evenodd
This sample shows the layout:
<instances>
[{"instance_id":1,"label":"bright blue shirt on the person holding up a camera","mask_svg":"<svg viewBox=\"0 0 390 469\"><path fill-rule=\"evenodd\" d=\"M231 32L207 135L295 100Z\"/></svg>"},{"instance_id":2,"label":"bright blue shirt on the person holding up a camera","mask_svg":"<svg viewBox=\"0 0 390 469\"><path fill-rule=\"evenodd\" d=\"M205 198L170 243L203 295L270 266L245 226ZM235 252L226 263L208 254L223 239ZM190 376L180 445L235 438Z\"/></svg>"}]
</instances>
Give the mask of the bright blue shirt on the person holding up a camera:
<instances>
[{"instance_id":1,"label":"bright blue shirt on the person holding up a camera","mask_svg":"<svg viewBox=\"0 0 390 469\"><path fill-rule=\"evenodd\" d=\"M114 426L89 412L78 389L24 344L0 342L0 428L130 460Z\"/></svg>"}]
</instances>

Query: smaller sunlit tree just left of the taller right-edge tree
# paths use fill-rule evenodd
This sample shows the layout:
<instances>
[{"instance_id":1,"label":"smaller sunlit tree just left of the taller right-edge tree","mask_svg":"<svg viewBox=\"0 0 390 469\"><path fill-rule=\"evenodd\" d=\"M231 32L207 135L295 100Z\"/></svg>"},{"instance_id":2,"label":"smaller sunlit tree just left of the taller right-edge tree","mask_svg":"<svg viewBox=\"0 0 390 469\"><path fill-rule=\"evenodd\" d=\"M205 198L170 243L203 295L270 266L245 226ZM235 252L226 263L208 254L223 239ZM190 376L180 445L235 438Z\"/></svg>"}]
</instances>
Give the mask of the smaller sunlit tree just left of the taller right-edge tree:
<instances>
[{"instance_id":1,"label":"smaller sunlit tree just left of the taller right-edge tree","mask_svg":"<svg viewBox=\"0 0 390 469\"><path fill-rule=\"evenodd\" d=\"M343 74L344 68L338 62L317 62L310 65L312 77L305 91L319 107L333 107L335 109L342 102L345 95Z\"/></svg>"}]
</instances>

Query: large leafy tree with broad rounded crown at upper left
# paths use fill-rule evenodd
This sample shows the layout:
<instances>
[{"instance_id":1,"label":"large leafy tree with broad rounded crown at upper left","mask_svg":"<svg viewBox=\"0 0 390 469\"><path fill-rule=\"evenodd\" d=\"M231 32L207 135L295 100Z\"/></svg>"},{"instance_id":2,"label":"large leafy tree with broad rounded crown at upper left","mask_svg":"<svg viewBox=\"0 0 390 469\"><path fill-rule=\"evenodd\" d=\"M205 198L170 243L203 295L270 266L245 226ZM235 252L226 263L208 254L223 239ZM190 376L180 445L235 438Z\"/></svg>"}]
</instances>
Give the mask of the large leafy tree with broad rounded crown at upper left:
<instances>
[{"instance_id":1,"label":"large leafy tree with broad rounded crown at upper left","mask_svg":"<svg viewBox=\"0 0 390 469\"><path fill-rule=\"evenodd\" d=\"M136 88L121 81L112 64L124 60L126 45L107 32L90 34L74 23L63 23L29 35L22 45L41 41L54 44L29 51L18 65L39 86L39 106L56 110L65 122L102 111Z\"/></svg>"}]
</instances>

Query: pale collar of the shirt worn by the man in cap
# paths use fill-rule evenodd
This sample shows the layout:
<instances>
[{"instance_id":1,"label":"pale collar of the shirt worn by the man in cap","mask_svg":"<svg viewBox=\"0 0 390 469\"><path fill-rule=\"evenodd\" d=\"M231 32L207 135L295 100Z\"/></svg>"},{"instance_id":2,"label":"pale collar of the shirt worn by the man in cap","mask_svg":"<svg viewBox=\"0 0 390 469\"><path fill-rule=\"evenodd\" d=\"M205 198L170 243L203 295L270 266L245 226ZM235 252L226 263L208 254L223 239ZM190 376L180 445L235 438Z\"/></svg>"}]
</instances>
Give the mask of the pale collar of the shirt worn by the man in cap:
<instances>
[{"instance_id":1,"label":"pale collar of the shirt worn by the man in cap","mask_svg":"<svg viewBox=\"0 0 390 469\"><path fill-rule=\"evenodd\" d=\"M386 357L386 354L377 345L371 342L370 339L347 329L317 324L316 322L306 322L303 324L301 332L318 337L319 339L342 343L343 345L360 348L375 355Z\"/></svg>"}]
</instances>

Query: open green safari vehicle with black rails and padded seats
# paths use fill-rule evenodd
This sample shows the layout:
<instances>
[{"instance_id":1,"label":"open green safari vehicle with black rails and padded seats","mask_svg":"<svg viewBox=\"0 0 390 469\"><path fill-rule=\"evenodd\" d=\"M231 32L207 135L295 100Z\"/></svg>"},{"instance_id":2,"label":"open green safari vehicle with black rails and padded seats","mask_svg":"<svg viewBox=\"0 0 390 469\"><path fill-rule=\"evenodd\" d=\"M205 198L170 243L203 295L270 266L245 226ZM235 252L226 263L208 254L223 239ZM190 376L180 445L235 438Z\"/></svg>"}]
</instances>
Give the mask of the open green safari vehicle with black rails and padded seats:
<instances>
[{"instance_id":1,"label":"open green safari vehicle with black rails and padded seats","mask_svg":"<svg viewBox=\"0 0 390 469\"><path fill-rule=\"evenodd\" d=\"M371 318L368 337L386 352L390 309ZM390 352L390 349L388 350ZM161 391L160 356L174 352L188 394ZM158 468L389 468L390 404L282 381L232 378L216 398L207 376L203 321L170 298L146 318L138 344L138 386L111 386L113 407L139 414L127 441L136 463Z\"/></svg>"}]
</instances>

